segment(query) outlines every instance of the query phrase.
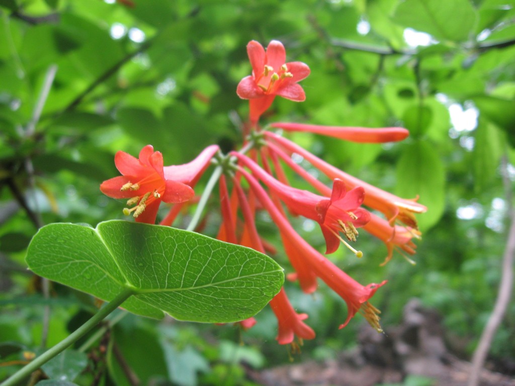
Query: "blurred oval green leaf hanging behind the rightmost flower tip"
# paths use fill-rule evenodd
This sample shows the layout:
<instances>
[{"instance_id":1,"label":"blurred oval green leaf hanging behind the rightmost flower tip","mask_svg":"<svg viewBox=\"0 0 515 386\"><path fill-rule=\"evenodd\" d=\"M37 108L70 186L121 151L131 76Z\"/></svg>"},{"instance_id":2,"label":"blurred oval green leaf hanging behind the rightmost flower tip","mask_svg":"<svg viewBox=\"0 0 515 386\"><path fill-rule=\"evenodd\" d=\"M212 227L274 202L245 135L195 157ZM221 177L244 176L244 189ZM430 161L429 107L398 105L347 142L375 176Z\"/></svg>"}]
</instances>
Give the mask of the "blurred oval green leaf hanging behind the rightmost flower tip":
<instances>
[{"instance_id":1,"label":"blurred oval green leaf hanging behind the rightmost flower tip","mask_svg":"<svg viewBox=\"0 0 515 386\"><path fill-rule=\"evenodd\" d=\"M418 216L420 228L426 231L443 214L445 205L445 170L435 147L427 141L407 146L397 164L396 194L400 197L420 197L427 212Z\"/></svg>"}]
</instances>

